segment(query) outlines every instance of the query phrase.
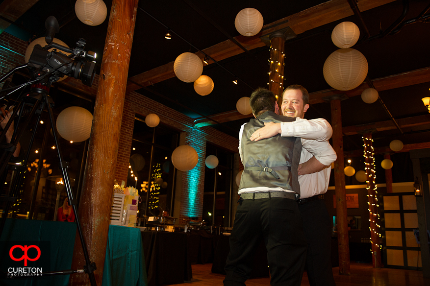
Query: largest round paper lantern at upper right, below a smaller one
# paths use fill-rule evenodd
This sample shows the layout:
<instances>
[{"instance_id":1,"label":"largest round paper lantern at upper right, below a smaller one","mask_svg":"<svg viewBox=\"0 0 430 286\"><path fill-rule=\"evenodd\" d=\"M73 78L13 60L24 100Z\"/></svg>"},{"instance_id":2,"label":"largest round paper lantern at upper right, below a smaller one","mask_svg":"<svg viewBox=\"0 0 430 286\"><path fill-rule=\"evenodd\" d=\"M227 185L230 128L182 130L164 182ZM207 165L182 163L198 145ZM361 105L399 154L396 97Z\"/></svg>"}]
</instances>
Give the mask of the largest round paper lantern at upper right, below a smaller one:
<instances>
[{"instance_id":1,"label":"largest round paper lantern at upper right, below a smaller one","mask_svg":"<svg viewBox=\"0 0 430 286\"><path fill-rule=\"evenodd\" d=\"M324 63L323 73L334 89L349 91L359 86L368 71L364 55L353 48L340 48L332 52Z\"/></svg>"}]
</instances>

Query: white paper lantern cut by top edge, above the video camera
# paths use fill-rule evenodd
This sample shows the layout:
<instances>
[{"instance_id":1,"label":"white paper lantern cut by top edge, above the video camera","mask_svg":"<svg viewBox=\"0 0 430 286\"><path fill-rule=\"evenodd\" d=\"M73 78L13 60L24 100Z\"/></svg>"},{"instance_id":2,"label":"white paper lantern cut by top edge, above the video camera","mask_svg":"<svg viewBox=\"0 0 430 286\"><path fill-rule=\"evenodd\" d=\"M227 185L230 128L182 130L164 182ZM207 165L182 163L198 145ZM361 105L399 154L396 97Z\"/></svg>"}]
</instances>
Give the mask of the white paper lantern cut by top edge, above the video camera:
<instances>
[{"instance_id":1,"label":"white paper lantern cut by top edge, above the video camera","mask_svg":"<svg viewBox=\"0 0 430 286\"><path fill-rule=\"evenodd\" d=\"M89 26L97 26L107 16L106 4L102 0L76 0L76 17Z\"/></svg>"}]
</instances>

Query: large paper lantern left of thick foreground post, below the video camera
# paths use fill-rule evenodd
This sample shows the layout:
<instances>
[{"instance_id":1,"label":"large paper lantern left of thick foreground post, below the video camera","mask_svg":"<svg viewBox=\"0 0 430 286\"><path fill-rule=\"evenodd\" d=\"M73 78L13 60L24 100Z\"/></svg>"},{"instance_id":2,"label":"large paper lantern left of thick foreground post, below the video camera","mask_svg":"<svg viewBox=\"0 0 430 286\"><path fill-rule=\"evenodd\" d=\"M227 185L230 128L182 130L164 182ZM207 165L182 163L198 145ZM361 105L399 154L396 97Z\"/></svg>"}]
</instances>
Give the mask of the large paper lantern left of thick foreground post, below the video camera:
<instances>
[{"instance_id":1,"label":"large paper lantern left of thick foreground post, below the video camera","mask_svg":"<svg viewBox=\"0 0 430 286\"><path fill-rule=\"evenodd\" d=\"M57 131L67 141L82 142L90 138L93 115L85 108L71 106L57 117Z\"/></svg>"}]
</instances>

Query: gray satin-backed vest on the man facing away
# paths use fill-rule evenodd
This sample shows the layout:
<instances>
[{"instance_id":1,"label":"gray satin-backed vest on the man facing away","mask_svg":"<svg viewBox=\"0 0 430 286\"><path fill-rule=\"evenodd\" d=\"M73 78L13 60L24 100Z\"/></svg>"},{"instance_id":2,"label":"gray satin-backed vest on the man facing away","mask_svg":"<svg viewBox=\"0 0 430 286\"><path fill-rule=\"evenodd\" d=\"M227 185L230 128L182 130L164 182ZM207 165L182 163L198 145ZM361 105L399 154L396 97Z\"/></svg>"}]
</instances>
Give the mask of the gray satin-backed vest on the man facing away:
<instances>
[{"instance_id":1,"label":"gray satin-backed vest on the man facing away","mask_svg":"<svg viewBox=\"0 0 430 286\"><path fill-rule=\"evenodd\" d=\"M251 141L255 130L264 122L291 122L295 118L277 115L267 111L245 124L241 138L244 171L239 190L254 187L280 187L295 191L300 195L297 174L302 141L298 137L281 137L280 134L260 141Z\"/></svg>"}]
</instances>

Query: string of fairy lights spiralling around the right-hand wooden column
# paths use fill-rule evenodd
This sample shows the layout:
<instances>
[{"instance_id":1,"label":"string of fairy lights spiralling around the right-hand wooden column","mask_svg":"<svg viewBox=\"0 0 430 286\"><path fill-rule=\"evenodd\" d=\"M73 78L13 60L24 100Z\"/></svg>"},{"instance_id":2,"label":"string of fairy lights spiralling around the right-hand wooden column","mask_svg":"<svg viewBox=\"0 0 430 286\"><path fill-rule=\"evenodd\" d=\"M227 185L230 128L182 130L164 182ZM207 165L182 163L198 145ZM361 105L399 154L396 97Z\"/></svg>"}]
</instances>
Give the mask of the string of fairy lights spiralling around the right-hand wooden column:
<instances>
[{"instance_id":1,"label":"string of fairy lights spiralling around the right-hand wooden column","mask_svg":"<svg viewBox=\"0 0 430 286\"><path fill-rule=\"evenodd\" d=\"M373 139L369 137L362 137L363 139L363 147L364 147L364 158L365 158L365 168L366 176L368 180L367 182L367 196L368 196L368 202L369 208L367 209L369 211L369 221L370 224L370 231L375 234L376 241L373 241L372 235L370 237L370 242L372 244L375 244L376 247L379 247L379 249L382 249L382 244L379 242L379 238L381 237L381 234L379 233L380 225L379 222L379 214L378 214L378 186L376 185L376 171L375 171L375 152L373 148ZM369 183L370 182L370 183ZM373 189L371 190L373 186ZM371 249L371 251L373 251Z\"/></svg>"}]
</instances>

